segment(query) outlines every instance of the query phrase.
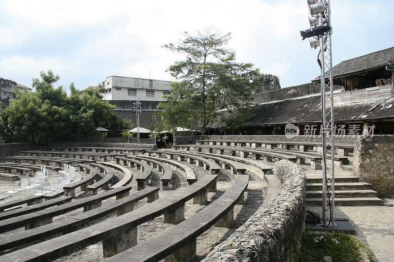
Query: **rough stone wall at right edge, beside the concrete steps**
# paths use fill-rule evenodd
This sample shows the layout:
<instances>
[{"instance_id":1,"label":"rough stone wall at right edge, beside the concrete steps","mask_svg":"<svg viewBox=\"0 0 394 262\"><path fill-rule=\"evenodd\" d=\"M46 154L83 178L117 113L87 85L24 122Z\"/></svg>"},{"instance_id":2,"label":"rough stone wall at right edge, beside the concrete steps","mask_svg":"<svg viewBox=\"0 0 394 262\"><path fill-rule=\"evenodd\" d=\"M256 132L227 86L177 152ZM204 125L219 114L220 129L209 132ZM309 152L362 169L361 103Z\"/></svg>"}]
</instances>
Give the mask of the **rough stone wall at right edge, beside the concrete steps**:
<instances>
[{"instance_id":1,"label":"rough stone wall at right edge, beside the concrete steps","mask_svg":"<svg viewBox=\"0 0 394 262\"><path fill-rule=\"evenodd\" d=\"M394 194L394 135L359 137L353 172L372 185L379 196Z\"/></svg>"}]
</instances>

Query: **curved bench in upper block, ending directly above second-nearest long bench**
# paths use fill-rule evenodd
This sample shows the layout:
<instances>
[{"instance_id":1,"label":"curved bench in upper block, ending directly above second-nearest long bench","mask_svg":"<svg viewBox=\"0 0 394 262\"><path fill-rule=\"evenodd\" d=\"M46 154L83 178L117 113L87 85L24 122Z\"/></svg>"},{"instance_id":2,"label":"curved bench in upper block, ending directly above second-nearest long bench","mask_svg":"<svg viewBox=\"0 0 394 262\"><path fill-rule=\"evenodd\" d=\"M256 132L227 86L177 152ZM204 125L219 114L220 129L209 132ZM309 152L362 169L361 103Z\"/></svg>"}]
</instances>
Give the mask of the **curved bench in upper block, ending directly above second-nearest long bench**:
<instances>
[{"instance_id":1,"label":"curved bench in upper block, ending directly above second-nearest long bench","mask_svg":"<svg viewBox=\"0 0 394 262\"><path fill-rule=\"evenodd\" d=\"M178 161L184 161L186 158L189 164L196 163L197 166L199 167L203 166L205 170L209 170L210 174L219 174L220 167L218 164L216 164L215 161L211 161L209 159L199 157L194 154L190 154L190 153L188 154L179 151L169 151L169 150L146 150L148 156L157 152L165 153L168 159L173 159L174 156L178 156Z\"/></svg>"}]
</instances>

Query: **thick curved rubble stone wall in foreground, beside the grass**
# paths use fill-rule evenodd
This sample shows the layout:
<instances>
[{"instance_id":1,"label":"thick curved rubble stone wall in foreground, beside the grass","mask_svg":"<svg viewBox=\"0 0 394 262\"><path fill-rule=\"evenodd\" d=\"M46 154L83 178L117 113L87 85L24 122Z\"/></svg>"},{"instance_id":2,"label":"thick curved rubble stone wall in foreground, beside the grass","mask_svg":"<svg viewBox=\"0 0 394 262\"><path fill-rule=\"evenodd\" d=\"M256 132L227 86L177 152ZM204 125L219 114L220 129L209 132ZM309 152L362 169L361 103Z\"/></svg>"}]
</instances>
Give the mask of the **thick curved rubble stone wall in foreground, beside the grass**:
<instances>
[{"instance_id":1,"label":"thick curved rubble stone wall in foreground, beside the grass","mask_svg":"<svg viewBox=\"0 0 394 262\"><path fill-rule=\"evenodd\" d=\"M296 261L305 227L306 176L296 164L281 160L282 186L262 210L218 245L203 261Z\"/></svg>"}]
</instances>

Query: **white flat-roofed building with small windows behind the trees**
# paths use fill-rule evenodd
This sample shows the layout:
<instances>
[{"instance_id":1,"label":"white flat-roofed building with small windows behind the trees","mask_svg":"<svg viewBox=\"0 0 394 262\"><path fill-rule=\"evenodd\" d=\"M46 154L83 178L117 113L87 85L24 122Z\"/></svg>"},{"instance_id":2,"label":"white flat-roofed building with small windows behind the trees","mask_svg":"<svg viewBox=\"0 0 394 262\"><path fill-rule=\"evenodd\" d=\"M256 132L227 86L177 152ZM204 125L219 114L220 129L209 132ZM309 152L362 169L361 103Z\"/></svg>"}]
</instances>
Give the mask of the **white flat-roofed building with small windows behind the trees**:
<instances>
[{"instance_id":1,"label":"white flat-roofed building with small windows behind the trees","mask_svg":"<svg viewBox=\"0 0 394 262\"><path fill-rule=\"evenodd\" d=\"M166 101L162 96L171 94L170 83L171 81L109 76L102 82L105 88L102 99Z\"/></svg>"}]
</instances>

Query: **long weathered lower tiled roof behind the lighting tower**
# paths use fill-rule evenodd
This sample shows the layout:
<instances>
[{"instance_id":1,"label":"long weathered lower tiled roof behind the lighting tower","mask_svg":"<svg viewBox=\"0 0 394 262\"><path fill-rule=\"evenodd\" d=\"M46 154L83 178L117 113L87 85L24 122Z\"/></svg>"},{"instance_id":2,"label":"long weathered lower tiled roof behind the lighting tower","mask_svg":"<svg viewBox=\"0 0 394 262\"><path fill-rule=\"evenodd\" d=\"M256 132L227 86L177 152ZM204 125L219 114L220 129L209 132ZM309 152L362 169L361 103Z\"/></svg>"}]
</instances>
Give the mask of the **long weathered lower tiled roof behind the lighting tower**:
<instances>
[{"instance_id":1,"label":"long weathered lower tiled roof behind the lighting tower","mask_svg":"<svg viewBox=\"0 0 394 262\"><path fill-rule=\"evenodd\" d=\"M256 105L251 110L252 116L244 122L243 126L320 122L322 118L320 101L320 95L313 95ZM375 117L373 113L377 109L381 108L379 105L384 101L385 99L334 105L334 118L336 121L349 121L356 120L358 118L359 121L361 121L361 116L363 115L366 115L366 118ZM394 103L393 99L390 101ZM374 106L378 106L377 109L367 113ZM388 105L386 107L388 107ZM221 114L225 117L229 115L227 111L223 111ZM394 105L392 107L382 109L382 112L379 113L379 116L384 117L393 115ZM218 121L210 124L209 127L220 127L222 124L223 123L221 121Z\"/></svg>"}]
</instances>

